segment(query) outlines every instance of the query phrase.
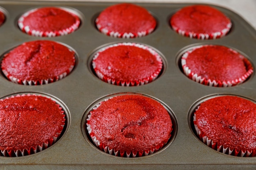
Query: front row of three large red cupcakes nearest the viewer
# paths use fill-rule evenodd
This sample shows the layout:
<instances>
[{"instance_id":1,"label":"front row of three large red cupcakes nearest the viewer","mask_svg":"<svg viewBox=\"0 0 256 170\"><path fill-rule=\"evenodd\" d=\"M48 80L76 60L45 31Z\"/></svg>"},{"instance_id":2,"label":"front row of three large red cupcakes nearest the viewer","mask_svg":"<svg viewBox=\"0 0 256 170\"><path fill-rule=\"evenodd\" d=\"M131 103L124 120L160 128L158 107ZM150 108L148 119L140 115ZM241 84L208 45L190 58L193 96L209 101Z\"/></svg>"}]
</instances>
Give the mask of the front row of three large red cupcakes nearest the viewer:
<instances>
[{"instance_id":1,"label":"front row of three large red cupcakes nearest the viewer","mask_svg":"<svg viewBox=\"0 0 256 170\"><path fill-rule=\"evenodd\" d=\"M231 94L199 100L191 111L191 128L204 144L218 152L256 155L254 100ZM52 96L18 94L0 99L0 155L19 157L52 146L67 127L68 113ZM8 120L8 121L7 121ZM105 96L85 111L82 131L88 142L118 157L142 157L173 142L177 120L156 98L121 93Z\"/></svg>"}]
</instances>

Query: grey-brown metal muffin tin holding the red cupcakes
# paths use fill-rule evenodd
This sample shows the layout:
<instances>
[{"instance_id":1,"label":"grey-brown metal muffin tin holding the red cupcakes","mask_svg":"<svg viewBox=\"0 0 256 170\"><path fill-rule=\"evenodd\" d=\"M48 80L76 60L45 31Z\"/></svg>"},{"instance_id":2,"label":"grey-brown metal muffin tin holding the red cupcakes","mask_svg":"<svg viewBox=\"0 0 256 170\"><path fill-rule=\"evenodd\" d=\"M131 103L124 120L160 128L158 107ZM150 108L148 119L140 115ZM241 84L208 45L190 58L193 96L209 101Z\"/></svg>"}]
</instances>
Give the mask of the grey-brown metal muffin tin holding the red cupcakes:
<instances>
[{"instance_id":1,"label":"grey-brown metal muffin tin holding the red cupcakes","mask_svg":"<svg viewBox=\"0 0 256 170\"><path fill-rule=\"evenodd\" d=\"M51 147L23 157L0 157L0 164L9 169L135 169L135 168L255 168L256 157L235 157L219 153L203 144L191 126L191 113L197 103L212 95L237 95L256 100L256 31L236 13L213 6L225 13L232 28L228 35L215 40L190 39L171 29L169 18L175 11L190 4L141 3L157 19L157 28L145 37L119 39L97 31L94 21L99 13L114 3L1 1L0 10L6 21L0 26L0 55L26 41L47 39L58 41L76 52L77 62L67 77L47 85L19 85L0 76L0 98L12 94L36 93L52 96L65 108L67 126L62 137ZM69 35L34 37L22 33L18 17L38 7L57 6L76 11L81 26ZM101 81L92 71L93 54L101 47L118 42L135 42L153 47L163 58L164 68L153 82L135 87L122 87ZM254 67L247 81L234 87L210 87L187 78L180 68L180 55L188 48L202 44L225 45L244 54ZM122 158L109 155L94 146L84 129L85 118L93 105L120 93L139 93L157 99L173 113L175 134L159 152L144 157Z\"/></svg>"}]
</instances>

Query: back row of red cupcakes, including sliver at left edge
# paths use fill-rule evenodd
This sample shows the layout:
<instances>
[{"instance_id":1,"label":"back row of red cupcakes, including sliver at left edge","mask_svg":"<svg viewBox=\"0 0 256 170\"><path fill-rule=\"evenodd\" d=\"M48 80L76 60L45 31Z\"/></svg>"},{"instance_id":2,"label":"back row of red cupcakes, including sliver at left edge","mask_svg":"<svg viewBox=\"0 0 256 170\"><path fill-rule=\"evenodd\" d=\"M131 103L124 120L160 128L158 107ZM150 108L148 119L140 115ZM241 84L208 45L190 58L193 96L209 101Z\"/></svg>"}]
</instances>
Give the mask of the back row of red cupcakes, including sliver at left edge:
<instances>
[{"instance_id":1,"label":"back row of red cupcakes, including sliver at left edge","mask_svg":"<svg viewBox=\"0 0 256 170\"><path fill-rule=\"evenodd\" d=\"M5 19L4 13L0 11L0 24ZM80 24L81 18L75 11L61 7L31 9L18 19L21 31L38 37L67 35L76 31ZM206 5L180 9L169 19L169 24L180 35L197 39L223 37L232 26L231 20L224 13ZM108 36L135 38L152 33L157 27L157 20L144 7L121 3L101 11L95 25Z\"/></svg>"}]
</instances>

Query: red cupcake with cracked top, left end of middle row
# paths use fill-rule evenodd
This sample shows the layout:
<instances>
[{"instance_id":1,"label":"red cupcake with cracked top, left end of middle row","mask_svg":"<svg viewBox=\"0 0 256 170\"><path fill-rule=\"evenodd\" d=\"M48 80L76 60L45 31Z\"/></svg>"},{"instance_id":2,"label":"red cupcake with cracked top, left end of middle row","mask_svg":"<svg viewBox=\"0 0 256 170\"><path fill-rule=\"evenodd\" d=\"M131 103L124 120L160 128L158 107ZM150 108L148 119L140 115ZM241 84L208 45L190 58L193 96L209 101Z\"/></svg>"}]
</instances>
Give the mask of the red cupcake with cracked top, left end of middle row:
<instances>
[{"instance_id":1,"label":"red cupcake with cracked top, left end of middle row","mask_svg":"<svg viewBox=\"0 0 256 170\"><path fill-rule=\"evenodd\" d=\"M41 85L67 76L75 65L74 52L48 40L29 41L4 55L2 72L12 82Z\"/></svg>"}]
</instances>

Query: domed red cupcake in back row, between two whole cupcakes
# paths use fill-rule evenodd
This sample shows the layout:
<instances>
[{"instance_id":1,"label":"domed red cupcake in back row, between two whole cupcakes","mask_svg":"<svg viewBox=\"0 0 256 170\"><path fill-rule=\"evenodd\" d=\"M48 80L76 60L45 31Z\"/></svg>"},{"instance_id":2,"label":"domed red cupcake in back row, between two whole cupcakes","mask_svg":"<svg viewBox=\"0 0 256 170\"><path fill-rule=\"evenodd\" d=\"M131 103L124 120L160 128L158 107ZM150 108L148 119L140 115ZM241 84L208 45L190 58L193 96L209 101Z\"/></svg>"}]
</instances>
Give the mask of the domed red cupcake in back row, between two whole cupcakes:
<instances>
[{"instance_id":1,"label":"domed red cupcake in back row, between two whole cupcakes","mask_svg":"<svg viewBox=\"0 0 256 170\"><path fill-rule=\"evenodd\" d=\"M143 37L154 31L157 22L143 7L121 3L103 10L96 19L101 33L112 37Z\"/></svg>"}]
</instances>

